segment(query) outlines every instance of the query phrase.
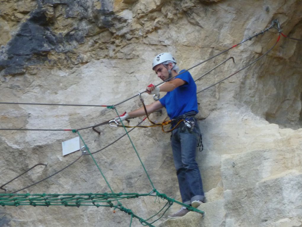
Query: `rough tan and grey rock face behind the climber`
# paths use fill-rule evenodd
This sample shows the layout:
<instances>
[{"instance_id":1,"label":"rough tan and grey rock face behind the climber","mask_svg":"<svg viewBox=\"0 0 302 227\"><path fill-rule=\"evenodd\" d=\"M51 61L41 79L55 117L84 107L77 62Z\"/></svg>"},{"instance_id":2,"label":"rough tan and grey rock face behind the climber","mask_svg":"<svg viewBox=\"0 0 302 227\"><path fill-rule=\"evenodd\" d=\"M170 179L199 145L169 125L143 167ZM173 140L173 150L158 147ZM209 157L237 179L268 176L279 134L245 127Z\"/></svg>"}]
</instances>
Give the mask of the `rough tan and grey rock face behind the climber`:
<instances>
[{"instance_id":1,"label":"rough tan and grey rock face behind the climber","mask_svg":"<svg viewBox=\"0 0 302 227\"><path fill-rule=\"evenodd\" d=\"M171 52L180 68L190 68L278 19L282 33L302 39L299 0L22 0L0 1L0 101L116 105L119 114L141 107L147 84L161 81L153 57ZM245 67L278 38L272 28L190 70L198 91ZM275 48L229 79L198 93L204 151L197 153L206 203L204 217L189 212L153 225L302 226L302 42L281 36ZM161 94L164 95L164 94ZM142 94L146 104L153 101ZM104 107L0 104L0 128L79 129L113 119ZM150 118L160 122L165 110ZM143 118L131 119L135 125ZM147 125L147 122L143 123ZM122 128L97 127L80 134L118 192L149 193L153 187ZM181 201L169 145L159 128L129 133L154 187ZM11 193L50 176L81 152L62 156L70 131L0 130L0 184ZM83 143L81 143L83 146ZM99 151L101 150L101 151ZM2 192L5 192L2 190ZM110 192L90 156L18 193ZM121 201L147 219L166 201L152 196ZM162 213L161 213L162 214ZM161 214L153 219L159 218ZM152 222L152 221L150 221ZM113 208L5 206L0 226L129 226L130 216ZM131 226L141 226L133 219Z\"/></svg>"}]
</instances>

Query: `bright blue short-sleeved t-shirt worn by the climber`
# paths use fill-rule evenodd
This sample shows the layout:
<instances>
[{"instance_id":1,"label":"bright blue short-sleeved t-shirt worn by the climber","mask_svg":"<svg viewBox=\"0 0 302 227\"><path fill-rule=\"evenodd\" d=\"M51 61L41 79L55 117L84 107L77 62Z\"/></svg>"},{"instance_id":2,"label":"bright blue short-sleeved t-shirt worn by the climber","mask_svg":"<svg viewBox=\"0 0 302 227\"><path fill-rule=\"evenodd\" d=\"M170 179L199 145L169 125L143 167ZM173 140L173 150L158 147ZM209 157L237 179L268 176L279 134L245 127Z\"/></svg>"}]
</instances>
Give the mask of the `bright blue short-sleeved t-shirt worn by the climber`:
<instances>
[{"instance_id":1,"label":"bright blue short-sleeved t-shirt worn by the climber","mask_svg":"<svg viewBox=\"0 0 302 227\"><path fill-rule=\"evenodd\" d=\"M182 70L179 73L183 71L185 70ZM164 97L159 99L159 102L167 109L170 119L175 119L176 117L191 111L198 113L196 84L191 74L186 71L175 78L182 79L186 83L167 92Z\"/></svg>"}]
</instances>

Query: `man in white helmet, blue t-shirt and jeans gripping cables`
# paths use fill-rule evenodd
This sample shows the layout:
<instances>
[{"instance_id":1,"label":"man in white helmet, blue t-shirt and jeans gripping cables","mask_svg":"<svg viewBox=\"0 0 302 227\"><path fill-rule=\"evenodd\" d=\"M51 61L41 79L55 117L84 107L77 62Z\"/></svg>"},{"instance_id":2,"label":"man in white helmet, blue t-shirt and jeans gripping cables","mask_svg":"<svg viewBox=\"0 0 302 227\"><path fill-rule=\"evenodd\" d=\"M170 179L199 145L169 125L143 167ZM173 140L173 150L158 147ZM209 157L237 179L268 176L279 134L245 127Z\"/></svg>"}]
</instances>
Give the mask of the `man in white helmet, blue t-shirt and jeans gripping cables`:
<instances>
[{"instance_id":1,"label":"man in white helmet, blue t-shirt and jeans gripping cables","mask_svg":"<svg viewBox=\"0 0 302 227\"><path fill-rule=\"evenodd\" d=\"M158 54L153 60L152 69L162 81L168 81L160 87L150 84L146 88L148 94L159 95L160 91L167 92L167 94L152 104L146 105L146 110L149 114L165 107L172 120L172 128L182 120L172 131L172 153L182 202L196 208L204 201L201 175L195 161L196 147L200 139L198 121L194 117L198 113L196 84L188 71L180 71L180 75L178 75L179 68L176 66L175 58L170 53ZM124 121L130 117L143 115L146 113L141 107L124 113L120 119ZM116 117L114 120L120 122L120 119ZM180 218L188 212L186 207L182 207L178 212L168 217Z\"/></svg>"}]
</instances>

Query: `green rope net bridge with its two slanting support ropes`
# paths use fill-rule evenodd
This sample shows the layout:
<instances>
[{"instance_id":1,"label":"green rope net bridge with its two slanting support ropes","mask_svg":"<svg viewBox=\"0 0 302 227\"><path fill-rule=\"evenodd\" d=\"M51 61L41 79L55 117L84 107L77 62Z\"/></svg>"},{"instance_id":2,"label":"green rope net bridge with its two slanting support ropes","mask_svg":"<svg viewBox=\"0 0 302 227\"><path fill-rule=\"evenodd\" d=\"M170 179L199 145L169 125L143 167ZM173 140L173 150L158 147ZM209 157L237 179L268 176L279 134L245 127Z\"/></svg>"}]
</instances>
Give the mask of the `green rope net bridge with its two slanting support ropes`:
<instances>
[{"instance_id":1,"label":"green rope net bridge with its two slanting support ropes","mask_svg":"<svg viewBox=\"0 0 302 227\"><path fill-rule=\"evenodd\" d=\"M117 113L117 116L119 116L116 108L112 107L112 109L114 109ZM122 122L122 121L121 121ZM124 124L123 124L124 127ZM165 194L161 194L159 193L152 181L151 178L149 176L149 174L147 173L147 170L142 162L142 160L140 159L140 156L128 134L127 129L124 127L124 130L127 133L127 136L130 140L130 143L133 146L133 149L135 151L135 153L137 154L138 159L140 160L141 165L143 166L143 169L150 181L151 186L153 187L153 190L150 193L146 193L146 194L139 194L139 193L114 193L114 191L112 190L108 180L106 179L106 177L104 176L104 173L102 172L101 168L99 167L97 161L95 160L95 158L93 157L93 155L91 154L88 146L86 145L86 143L84 142L82 136L80 135L79 131L74 130L72 132L74 133L78 133L80 139L82 140L83 144L85 145L85 148L87 149L88 153L90 154L90 156L92 157L95 165L97 166L99 172L101 173L102 177L104 178L106 184L108 185L111 193L86 193L86 194L15 194L15 193L0 193L0 205L1 206L96 206L96 207L114 207L115 209L119 209L125 213L127 213L128 215L131 215L131 219L130 219L130 226L132 223L132 219L133 218L137 218L142 225L145 226L153 226L152 225L154 222L158 221L159 219L161 219L163 217L163 215L165 214L165 212L170 208L170 206L172 206L173 203L178 203L179 205L182 205L184 207L186 207L188 210L190 211L194 211L194 212L198 212L200 214L204 214L203 211L196 209L194 207L188 206L186 204L183 204L182 202L178 202L170 197L168 197ZM120 202L120 200L123 199L133 199L133 198L139 198L142 196L156 196L157 198L166 200L167 202L165 203L165 205L154 215L152 215L151 217L147 218L147 219L143 219L137 215L135 215L133 213L133 211L131 209L127 209L124 206L122 206L122 203ZM161 214L160 214L161 213ZM156 220L150 221L151 219L153 219L156 215L160 215L159 218L157 218Z\"/></svg>"}]
</instances>

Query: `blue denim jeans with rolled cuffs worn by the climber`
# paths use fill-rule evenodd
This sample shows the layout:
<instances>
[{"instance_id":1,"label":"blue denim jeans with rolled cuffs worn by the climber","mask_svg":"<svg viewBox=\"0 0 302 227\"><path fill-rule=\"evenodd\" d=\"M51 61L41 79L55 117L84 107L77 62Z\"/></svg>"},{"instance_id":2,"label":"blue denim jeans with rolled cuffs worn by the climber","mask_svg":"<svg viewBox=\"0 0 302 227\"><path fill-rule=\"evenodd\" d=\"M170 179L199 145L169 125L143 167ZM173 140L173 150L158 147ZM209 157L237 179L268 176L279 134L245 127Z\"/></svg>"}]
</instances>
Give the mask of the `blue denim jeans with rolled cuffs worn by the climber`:
<instances>
[{"instance_id":1,"label":"blue denim jeans with rolled cuffs worn by the climber","mask_svg":"<svg viewBox=\"0 0 302 227\"><path fill-rule=\"evenodd\" d=\"M196 148L200 138L200 129L196 118L193 131L190 131L184 123L172 131L171 146L174 165L178 178L179 190L182 202L190 205L194 200L204 200L201 175L198 164L195 161Z\"/></svg>"}]
</instances>

